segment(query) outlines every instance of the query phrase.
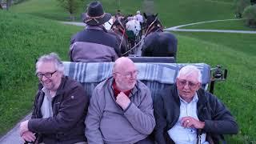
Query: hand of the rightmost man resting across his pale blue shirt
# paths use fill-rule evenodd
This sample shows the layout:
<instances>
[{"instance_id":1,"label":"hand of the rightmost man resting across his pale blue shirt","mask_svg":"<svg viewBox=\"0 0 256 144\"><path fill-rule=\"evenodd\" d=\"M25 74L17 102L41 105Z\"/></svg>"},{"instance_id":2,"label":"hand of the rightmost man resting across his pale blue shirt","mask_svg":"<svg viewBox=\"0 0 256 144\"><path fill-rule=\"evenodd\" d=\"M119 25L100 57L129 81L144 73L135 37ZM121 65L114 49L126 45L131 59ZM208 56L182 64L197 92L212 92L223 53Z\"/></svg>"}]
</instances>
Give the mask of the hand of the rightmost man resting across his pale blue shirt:
<instances>
[{"instance_id":1,"label":"hand of the rightmost man resting across his pale blue shirt","mask_svg":"<svg viewBox=\"0 0 256 144\"><path fill-rule=\"evenodd\" d=\"M205 122L201 122L192 117L183 117L182 118L183 127L192 127L196 129L203 129L205 127Z\"/></svg>"}]
</instances>

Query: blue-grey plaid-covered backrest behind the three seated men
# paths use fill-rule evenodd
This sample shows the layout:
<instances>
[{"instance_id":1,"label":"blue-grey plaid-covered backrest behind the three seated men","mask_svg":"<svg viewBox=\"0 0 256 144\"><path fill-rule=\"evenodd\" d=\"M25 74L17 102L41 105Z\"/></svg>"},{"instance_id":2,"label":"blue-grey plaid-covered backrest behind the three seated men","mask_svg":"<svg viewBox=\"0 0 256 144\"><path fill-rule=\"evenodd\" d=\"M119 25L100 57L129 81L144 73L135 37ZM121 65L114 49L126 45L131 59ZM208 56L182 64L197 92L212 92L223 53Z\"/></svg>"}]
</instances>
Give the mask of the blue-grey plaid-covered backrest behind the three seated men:
<instances>
[{"instance_id":1,"label":"blue-grey plaid-covered backrest behind the three seated men","mask_svg":"<svg viewBox=\"0 0 256 144\"><path fill-rule=\"evenodd\" d=\"M65 75L82 83L86 94L91 96L94 87L112 75L114 62L64 62ZM178 70L190 63L135 63L139 70L138 79L149 87L152 98L174 84ZM205 63L194 63L202 72L202 86L210 82L210 66Z\"/></svg>"}]
</instances>

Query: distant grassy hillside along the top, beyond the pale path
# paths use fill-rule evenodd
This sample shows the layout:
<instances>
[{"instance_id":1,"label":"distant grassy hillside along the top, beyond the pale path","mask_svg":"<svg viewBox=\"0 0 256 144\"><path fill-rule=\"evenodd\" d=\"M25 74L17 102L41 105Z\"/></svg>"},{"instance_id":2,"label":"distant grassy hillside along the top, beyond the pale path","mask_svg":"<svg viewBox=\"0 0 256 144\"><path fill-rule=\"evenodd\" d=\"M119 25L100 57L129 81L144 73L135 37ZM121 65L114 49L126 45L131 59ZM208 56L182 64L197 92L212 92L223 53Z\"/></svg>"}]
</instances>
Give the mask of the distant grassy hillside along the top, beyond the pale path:
<instances>
[{"instance_id":1,"label":"distant grassy hillside along the top, beyond the pale path","mask_svg":"<svg viewBox=\"0 0 256 144\"><path fill-rule=\"evenodd\" d=\"M81 20L80 16L86 10L86 4L91 1L86 0L85 4L79 8L78 14L76 14L77 21ZM123 14L135 14L136 10L158 13L165 26L234 18L230 0L101 0L100 2L102 2L106 12L111 14L115 14L118 9ZM153 3L153 7L150 7L150 2ZM11 11L55 20L69 20L69 14L62 10L56 0L29 0L18 6L13 6Z\"/></svg>"}]
</instances>

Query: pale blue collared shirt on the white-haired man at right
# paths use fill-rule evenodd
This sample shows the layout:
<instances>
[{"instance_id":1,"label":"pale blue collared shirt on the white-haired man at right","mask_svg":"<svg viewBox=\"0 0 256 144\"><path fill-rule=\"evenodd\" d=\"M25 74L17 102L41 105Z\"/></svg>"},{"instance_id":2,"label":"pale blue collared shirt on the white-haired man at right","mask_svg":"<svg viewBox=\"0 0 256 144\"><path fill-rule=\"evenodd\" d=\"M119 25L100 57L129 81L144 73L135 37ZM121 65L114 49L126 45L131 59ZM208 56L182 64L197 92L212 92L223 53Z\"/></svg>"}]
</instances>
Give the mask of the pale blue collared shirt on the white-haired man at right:
<instances>
[{"instance_id":1,"label":"pale blue collared shirt on the white-haired man at right","mask_svg":"<svg viewBox=\"0 0 256 144\"><path fill-rule=\"evenodd\" d=\"M178 122L168 130L168 134L170 138L176 144L195 144L197 142L197 130L195 128L185 128L182 126L182 118L183 117L193 117L198 119L197 115L197 102L198 102L198 94L194 95L194 98L191 102L186 102L184 99L180 97L180 115L178 118ZM201 135L201 143L207 144L206 142L206 134Z\"/></svg>"}]
</instances>

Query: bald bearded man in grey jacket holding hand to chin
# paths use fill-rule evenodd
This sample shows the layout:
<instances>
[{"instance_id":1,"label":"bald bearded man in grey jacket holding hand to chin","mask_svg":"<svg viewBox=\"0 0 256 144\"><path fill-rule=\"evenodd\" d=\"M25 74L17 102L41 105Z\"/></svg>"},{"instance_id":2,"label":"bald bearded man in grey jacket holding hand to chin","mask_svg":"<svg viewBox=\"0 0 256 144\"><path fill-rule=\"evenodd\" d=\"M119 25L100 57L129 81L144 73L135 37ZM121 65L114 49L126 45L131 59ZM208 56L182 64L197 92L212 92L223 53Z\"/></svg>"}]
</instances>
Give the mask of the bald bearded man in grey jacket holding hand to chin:
<instances>
[{"instance_id":1,"label":"bald bearded man in grey jacket holding hand to chin","mask_svg":"<svg viewBox=\"0 0 256 144\"><path fill-rule=\"evenodd\" d=\"M152 143L148 135L155 126L153 102L137 76L130 58L118 58L113 76L95 87L86 116L88 143Z\"/></svg>"}]
</instances>

